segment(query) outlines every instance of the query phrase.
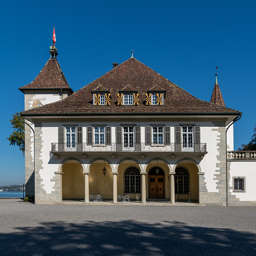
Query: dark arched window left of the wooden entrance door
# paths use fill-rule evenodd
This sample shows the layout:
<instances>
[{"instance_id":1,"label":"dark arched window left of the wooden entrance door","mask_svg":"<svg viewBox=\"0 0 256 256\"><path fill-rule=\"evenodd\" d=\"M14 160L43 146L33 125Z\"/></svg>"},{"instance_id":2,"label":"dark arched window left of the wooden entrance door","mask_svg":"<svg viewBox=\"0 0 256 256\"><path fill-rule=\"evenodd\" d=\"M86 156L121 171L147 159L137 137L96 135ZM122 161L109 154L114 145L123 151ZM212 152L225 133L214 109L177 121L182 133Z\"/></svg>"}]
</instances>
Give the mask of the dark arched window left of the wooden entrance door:
<instances>
[{"instance_id":1,"label":"dark arched window left of the wooden entrance door","mask_svg":"<svg viewBox=\"0 0 256 256\"><path fill-rule=\"evenodd\" d=\"M136 167L129 167L124 173L124 193L140 193L140 171Z\"/></svg>"}]
</instances>

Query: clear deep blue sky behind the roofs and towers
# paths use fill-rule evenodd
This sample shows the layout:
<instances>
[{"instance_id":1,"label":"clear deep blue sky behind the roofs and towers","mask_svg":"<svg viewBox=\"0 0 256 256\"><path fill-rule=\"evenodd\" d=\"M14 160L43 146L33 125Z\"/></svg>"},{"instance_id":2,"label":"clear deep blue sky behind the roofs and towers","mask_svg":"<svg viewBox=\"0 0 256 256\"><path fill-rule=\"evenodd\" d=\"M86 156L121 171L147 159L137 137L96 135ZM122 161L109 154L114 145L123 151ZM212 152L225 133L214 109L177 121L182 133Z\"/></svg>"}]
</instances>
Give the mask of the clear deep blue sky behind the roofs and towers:
<instances>
[{"instance_id":1,"label":"clear deep blue sky behind the roofs and towers","mask_svg":"<svg viewBox=\"0 0 256 256\"><path fill-rule=\"evenodd\" d=\"M9 145L12 113L24 109L17 88L49 59L55 23L59 63L76 91L134 57L199 99L218 83L227 107L243 112L235 149L255 124L255 1L12 1L0 23L0 185L25 181L24 156Z\"/></svg>"}]
</instances>

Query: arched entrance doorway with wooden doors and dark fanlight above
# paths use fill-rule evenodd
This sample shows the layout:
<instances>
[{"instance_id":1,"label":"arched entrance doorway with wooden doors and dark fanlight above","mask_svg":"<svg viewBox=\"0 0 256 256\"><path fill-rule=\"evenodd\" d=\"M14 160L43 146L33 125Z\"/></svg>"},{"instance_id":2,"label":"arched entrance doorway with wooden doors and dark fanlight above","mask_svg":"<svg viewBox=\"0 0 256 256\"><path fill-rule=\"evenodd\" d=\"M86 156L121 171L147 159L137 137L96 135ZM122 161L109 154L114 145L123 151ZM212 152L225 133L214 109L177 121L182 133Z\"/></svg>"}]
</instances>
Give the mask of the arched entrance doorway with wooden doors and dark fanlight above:
<instances>
[{"instance_id":1,"label":"arched entrance doorway with wooden doors and dark fanlight above","mask_svg":"<svg viewBox=\"0 0 256 256\"><path fill-rule=\"evenodd\" d=\"M156 172L156 169L159 172ZM160 167L153 167L149 171L149 198L163 199L164 191L164 171Z\"/></svg>"}]
</instances>

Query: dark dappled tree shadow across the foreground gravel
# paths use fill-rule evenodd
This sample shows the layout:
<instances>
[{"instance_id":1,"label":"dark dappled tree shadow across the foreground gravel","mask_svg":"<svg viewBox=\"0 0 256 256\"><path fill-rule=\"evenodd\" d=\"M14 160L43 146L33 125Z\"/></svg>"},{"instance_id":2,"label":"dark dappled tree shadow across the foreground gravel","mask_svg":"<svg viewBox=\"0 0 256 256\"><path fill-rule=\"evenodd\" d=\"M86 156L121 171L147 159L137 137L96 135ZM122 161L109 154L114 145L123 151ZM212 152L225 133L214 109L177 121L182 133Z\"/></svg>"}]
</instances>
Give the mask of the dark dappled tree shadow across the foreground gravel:
<instances>
[{"instance_id":1,"label":"dark dappled tree shadow across the foreground gravel","mask_svg":"<svg viewBox=\"0 0 256 256\"><path fill-rule=\"evenodd\" d=\"M0 234L2 255L256 255L255 235L180 222L45 222Z\"/></svg>"}]
</instances>

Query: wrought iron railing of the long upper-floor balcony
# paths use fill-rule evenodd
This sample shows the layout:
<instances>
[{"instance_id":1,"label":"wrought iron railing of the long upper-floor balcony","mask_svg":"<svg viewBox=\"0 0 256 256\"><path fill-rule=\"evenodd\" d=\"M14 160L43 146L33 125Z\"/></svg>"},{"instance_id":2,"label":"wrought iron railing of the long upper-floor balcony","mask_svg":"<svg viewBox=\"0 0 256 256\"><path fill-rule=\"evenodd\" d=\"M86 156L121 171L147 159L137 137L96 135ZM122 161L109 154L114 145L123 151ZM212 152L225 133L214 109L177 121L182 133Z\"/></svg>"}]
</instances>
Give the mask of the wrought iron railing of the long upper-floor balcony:
<instances>
[{"instance_id":1,"label":"wrought iron railing of the long upper-floor balcony","mask_svg":"<svg viewBox=\"0 0 256 256\"><path fill-rule=\"evenodd\" d=\"M206 152L206 143L171 143L150 144L145 143L52 143L51 152Z\"/></svg>"}]
</instances>

